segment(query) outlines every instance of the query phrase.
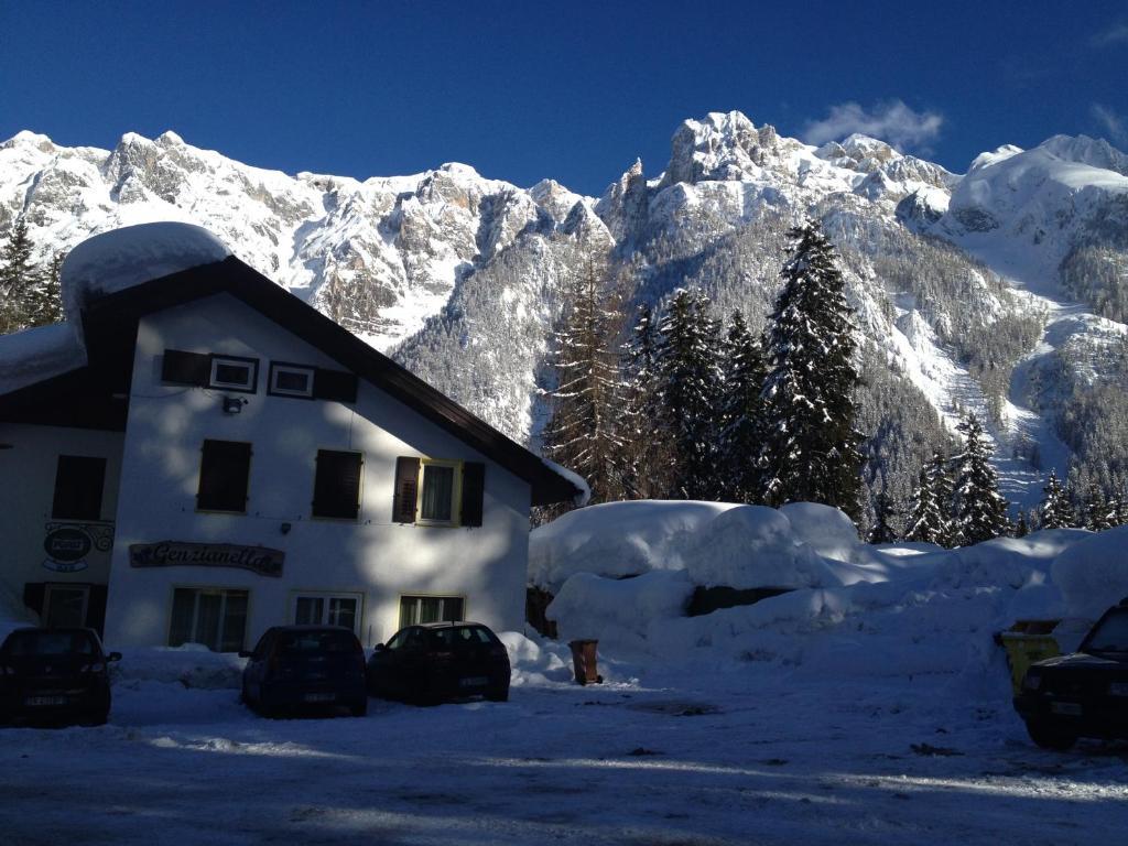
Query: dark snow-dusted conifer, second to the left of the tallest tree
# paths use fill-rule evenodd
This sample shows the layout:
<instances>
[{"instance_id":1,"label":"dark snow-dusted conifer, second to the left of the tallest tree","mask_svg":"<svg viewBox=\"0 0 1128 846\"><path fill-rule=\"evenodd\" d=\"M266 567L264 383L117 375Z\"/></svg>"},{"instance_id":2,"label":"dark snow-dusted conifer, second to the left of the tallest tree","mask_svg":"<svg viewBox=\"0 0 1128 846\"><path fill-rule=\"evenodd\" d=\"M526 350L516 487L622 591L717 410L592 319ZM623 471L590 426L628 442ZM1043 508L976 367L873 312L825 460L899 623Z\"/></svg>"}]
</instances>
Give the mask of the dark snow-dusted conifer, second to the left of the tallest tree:
<instances>
[{"instance_id":1,"label":"dark snow-dusted conifer, second to the left of the tallest tree","mask_svg":"<svg viewBox=\"0 0 1128 846\"><path fill-rule=\"evenodd\" d=\"M715 442L721 372L719 327L699 291L678 289L662 318L658 346L660 424L672 447L669 499L715 499Z\"/></svg>"}]
</instances>

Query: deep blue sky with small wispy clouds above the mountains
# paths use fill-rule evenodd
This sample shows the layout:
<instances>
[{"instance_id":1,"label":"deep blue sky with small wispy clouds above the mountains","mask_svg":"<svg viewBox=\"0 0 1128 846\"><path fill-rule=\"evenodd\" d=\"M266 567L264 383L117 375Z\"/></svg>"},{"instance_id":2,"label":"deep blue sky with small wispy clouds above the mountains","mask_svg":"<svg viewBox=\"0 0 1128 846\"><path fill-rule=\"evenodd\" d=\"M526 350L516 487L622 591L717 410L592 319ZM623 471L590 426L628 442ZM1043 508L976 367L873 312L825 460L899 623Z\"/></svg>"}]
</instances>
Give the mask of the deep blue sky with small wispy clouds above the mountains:
<instances>
[{"instance_id":1,"label":"deep blue sky with small wispy clouds above the mountains","mask_svg":"<svg viewBox=\"0 0 1128 846\"><path fill-rule=\"evenodd\" d=\"M784 8L794 6L799 8ZM1063 132L1128 148L1128 3L0 0L0 138L173 129L288 173L462 161L601 193L686 117L869 130L962 171Z\"/></svg>"}]
</instances>

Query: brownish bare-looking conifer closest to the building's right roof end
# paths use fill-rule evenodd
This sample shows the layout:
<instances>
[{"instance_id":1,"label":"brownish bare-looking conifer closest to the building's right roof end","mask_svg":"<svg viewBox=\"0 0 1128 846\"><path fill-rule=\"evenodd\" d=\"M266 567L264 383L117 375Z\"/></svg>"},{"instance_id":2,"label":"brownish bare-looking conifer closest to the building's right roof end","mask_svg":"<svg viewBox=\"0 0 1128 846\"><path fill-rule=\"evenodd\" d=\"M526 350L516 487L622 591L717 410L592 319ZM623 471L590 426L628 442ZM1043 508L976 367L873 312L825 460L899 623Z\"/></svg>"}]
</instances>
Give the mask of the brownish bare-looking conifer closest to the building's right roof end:
<instances>
[{"instance_id":1,"label":"brownish bare-looking conifer closest to the building's right roof end","mask_svg":"<svg viewBox=\"0 0 1128 846\"><path fill-rule=\"evenodd\" d=\"M556 333L553 416L545 426L545 453L580 474L592 502L623 496L624 441L617 431L620 394L614 342L620 316L609 307L602 275L594 265L580 274Z\"/></svg>"}]
</instances>

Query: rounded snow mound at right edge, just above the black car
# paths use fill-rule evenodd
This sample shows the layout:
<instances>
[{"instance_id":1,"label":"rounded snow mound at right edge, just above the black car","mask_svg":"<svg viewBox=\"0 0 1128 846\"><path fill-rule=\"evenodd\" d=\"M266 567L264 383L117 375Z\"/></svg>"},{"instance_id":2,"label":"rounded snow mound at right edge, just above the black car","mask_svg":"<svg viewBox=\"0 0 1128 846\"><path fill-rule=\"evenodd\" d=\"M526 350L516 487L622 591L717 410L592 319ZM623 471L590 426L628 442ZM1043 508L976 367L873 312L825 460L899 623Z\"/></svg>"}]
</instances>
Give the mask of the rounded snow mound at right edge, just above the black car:
<instances>
[{"instance_id":1,"label":"rounded snow mound at right edge, just above the black car","mask_svg":"<svg viewBox=\"0 0 1128 846\"><path fill-rule=\"evenodd\" d=\"M1054 559L1052 574L1069 616L1096 619L1128 598L1128 526L1085 534L1085 540Z\"/></svg>"}]
</instances>

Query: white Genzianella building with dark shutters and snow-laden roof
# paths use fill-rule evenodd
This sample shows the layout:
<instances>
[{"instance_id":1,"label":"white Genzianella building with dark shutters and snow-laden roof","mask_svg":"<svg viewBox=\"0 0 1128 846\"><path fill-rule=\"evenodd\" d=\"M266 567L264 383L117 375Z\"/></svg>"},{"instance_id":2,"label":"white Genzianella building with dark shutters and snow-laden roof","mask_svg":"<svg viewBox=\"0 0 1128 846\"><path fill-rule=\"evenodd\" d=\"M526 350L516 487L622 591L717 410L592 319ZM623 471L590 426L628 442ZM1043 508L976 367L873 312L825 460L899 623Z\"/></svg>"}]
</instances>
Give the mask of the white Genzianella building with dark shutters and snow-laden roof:
<instances>
[{"instance_id":1,"label":"white Genzianella building with dark shutters and snow-laden roof","mask_svg":"<svg viewBox=\"0 0 1128 846\"><path fill-rule=\"evenodd\" d=\"M186 224L74 248L0 336L0 605L114 646L523 620L544 464Z\"/></svg>"}]
</instances>

